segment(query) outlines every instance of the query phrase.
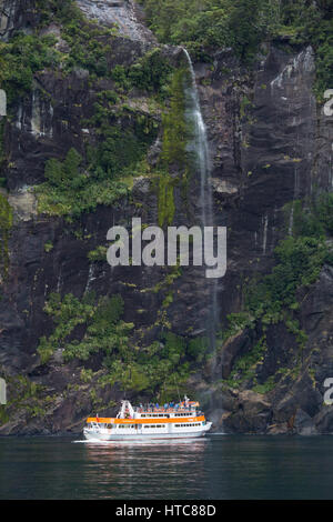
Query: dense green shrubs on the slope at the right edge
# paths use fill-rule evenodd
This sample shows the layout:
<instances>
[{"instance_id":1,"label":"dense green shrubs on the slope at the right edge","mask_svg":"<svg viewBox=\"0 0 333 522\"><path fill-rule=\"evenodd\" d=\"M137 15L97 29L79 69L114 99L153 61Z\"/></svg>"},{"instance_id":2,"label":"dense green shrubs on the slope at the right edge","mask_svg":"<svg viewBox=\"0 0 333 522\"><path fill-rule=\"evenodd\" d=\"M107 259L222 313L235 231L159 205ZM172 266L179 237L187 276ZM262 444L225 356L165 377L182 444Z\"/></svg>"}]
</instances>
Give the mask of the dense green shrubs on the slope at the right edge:
<instances>
[{"instance_id":1,"label":"dense green shrubs on the slope at the right edge","mask_svg":"<svg viewBox=\"0 0 333 522\"><path fill-rule=\"evenodd\" d=\"M272 273L250 282L244 312L230 315L232 333L258 319L263 324L286 320L287 310L299 308L297 290L314 283L325 262L332 263L326 235L332 233L333 194L321 194L311 209L304 210L301 201L293 205L292 235L276 247Z\"/></svg>"}]
</instances>

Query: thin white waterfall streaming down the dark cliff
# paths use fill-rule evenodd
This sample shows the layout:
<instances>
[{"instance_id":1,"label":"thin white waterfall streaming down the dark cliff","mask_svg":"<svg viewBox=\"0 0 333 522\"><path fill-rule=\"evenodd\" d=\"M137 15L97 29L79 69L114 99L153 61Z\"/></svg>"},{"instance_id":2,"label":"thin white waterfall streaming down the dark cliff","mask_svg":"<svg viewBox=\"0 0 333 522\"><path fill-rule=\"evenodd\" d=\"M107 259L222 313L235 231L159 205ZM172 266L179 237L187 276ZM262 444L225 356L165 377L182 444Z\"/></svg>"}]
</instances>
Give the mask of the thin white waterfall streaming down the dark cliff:
<instances>
[{"instance_id":1,"label":"thin white waterfall streaming down the dark cliff","mask_svg":"<svg viewBox=\"0 0 333 522\"><path fill-rule=\"evenodd\" d=\"M206 128L203 121L199 91L196 88L195 72L193 69L192 60L183 48L183 52L189 63L189 70L191 73L191 86L186 89L186 111L185 117L191 128L193 129L192 142L189 144L190 151L194 153L196 159L198 172L200 174L200 211L201 211L201 224L202 227L214 225L214 213L213 213L213 191L210 182L210 158L209 158L209 144ZM209 288L210 293L210 317L205 323L205 330L210 341L210 349L215 349L215 337L218 327L218 280L213 279L210 281Z\"/></svg>"}]
</instances>

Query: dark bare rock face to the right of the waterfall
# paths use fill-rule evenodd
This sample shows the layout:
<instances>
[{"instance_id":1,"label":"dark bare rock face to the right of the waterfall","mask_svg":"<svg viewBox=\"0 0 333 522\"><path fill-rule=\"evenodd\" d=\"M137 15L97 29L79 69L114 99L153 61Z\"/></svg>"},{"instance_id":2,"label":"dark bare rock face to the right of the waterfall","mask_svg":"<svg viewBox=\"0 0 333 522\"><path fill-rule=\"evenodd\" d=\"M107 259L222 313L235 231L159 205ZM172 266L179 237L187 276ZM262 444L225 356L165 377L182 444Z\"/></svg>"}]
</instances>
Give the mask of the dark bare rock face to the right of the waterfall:
<instances>
[{"instance_id":1,"label":"dark bare rock face to the right of the waterfall","mask_svg":"<svg viewBox=\"0 0 333 522\"><path fill-rule=\"evenodd\" d=\"M201 96L210 132L215 215L230 228L229 268L219 299L223 322L228 313L241 309L242 281L272 265L273 250L285 234L284 204L310 195L314 187L331 190L327 159L333 132L332 118L324 117L312 91L315 70L310 47L290 54L281 46L270 46L251 78L242 74L228 51L216 54L214 67L213 72L198 67L198 77L204 80ZM289 219L291 228L292 211ZM208 408L212 415L223 411L215 419L218 429L330 432L331 406L323 405L323 383L332 374L331 282L327 267L302 300L300 322L309 341L297 375L281 379L265 394L264 406L252 394L243 404L243 392L232 398L214 391ZM234 362L259 339L255 331L230 338L213 360L211 379L228 379ZM275 375L279 368L290 368L299 357L294 335L281 324L268 329L266 341L259 382Z\"/></svg>"}]
</instances>

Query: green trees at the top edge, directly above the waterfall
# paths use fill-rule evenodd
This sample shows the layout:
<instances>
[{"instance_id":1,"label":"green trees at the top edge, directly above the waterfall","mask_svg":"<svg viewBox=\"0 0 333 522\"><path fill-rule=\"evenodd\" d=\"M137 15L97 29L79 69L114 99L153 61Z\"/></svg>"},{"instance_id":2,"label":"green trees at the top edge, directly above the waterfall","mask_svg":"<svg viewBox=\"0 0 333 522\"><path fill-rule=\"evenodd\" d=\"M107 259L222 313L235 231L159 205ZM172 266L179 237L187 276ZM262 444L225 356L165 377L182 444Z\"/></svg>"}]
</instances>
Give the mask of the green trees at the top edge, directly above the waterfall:
<instances>
[{"instance_id":1,"label":"green trees at the top edge, directly above the waterfall","mask_svg":"<svg viewBox=\"0 0 333 522\"><path fill-rule=\"evenodd\" d=\"M204 49L230 47L241 56L255 50L263 36L263 1L142 0L148 21L165 43L183 44L204 56Z\"/></svg>"}]
</instances>

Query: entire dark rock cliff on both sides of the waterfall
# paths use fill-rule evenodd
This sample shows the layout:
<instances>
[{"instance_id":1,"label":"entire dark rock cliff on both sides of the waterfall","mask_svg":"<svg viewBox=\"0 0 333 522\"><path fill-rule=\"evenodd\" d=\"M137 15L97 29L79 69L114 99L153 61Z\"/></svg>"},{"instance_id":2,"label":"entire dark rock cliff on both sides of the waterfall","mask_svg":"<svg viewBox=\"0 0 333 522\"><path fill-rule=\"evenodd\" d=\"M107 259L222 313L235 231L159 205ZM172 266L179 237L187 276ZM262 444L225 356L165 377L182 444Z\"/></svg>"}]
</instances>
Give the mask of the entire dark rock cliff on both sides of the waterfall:
<instances>
[{"instance_id":1,"label":"entire dark rock cliff on both sides of the waterfall","mask_svg":"<svg viewBox=\"0 0 333 522\"><path fill-rule=\"evenodd\" d=\"M154 49L170 68L184 67L182 50L158 44L135 2L77 3L88 19L98 20L99 28L113 31L92 37L104 46L111 39L108 70L131 68ZM40 23L32 0L3 0L0 7L4 42L18 30L29 36ZM43 23L39 30L40 36L56 39L59 53L69 52L60 22ZM270 41L262 44L251 69L241 66L231 49L214 51L210 58L209 63L196 62L194 69L209 134L215 222L226 225L229 232L228 271L218 281L223 332L226 317L243 309L246 283L275 265L274 249L293 228L297 201L317 189L331 190L333 117L324 114L314 96L315 61L310 46L291 44L287 38ZM8 263L2 260L0 372L13 399L0 415L1 434L77 432L91 411L111 412L123 395L124 385L117 379L101 385L105 361L100 351L87 359L67 359L68 340L59 338L52 355L41 358L41 339L54 334L54 317L46 310L52 293L61 299L72 294L80 301L92 292L95 299L121 295L122 319L133 324L129 335L133 351L144 351L158 340L155 350L163 353L168 332L184 339L188 348L204 339L212 285L201 270L112 269L105 257L91 254L105 247L107 232L114 223L130 227L132 217L149 224L159 222L161 202L153 177L137 172L127 195L110 204L98 202L79 218L40 211L34 187L46 182L46 163L63 161L70 148L85 157L87 143L99 147L105 137L92 121L100 94L111 91L118 93L108 116L112 129L119 129L122 137L129 132L138 135L138 124L143 126L140 132L149 138L145 158L152 171L161 154L164 109L137 87L124 99L114 76L95 79L80 64L65 73L62 66L41 68L33 72L31 89L13 98L10 117L2 120L7 182L1 197L10 205L13 222L8 247L2 247ZM175 168L171 177L175 180L173 224L198 224L198 177L188 181L185 198ZM2 229L1 239L4 245ZM264 349L252 361L256 387L253 379L233 387L231 375L238 361L258 351L263 337L260 322L228 339L219 338L213 353L194 357L194 349L189 348L185 360L175 355L172 372L178 364L183 373L186 368L182 385L201 399L215 429L332 432L333 409L323 403L324 381L333 377L332 267L324 263L316 281L299 292L294 315L306 341L300 348L297 334L283 321L270 323L264 330ZM81 339L82 329L78 322L68 339ZM170 353L176 354L176 350L170 349ZM164 359L161 361L163 365ZM273 385L265 388L268 382ZM150 399L143 385L127 385L125 390L133 400Z\"/></svg>"}]
</instances>

